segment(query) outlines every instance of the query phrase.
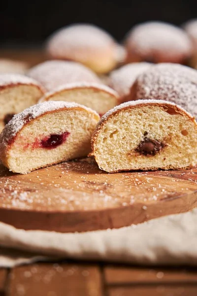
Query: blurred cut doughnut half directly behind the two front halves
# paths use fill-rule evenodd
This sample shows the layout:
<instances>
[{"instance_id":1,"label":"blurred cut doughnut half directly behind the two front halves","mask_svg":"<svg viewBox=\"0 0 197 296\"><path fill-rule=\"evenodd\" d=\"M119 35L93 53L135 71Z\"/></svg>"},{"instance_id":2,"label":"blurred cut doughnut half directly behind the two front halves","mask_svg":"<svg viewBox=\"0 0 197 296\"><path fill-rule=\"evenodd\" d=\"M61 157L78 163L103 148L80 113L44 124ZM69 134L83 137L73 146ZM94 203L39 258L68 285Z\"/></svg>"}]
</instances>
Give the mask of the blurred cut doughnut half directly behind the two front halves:
<instances>
[{"instance_id":1,"label":"blurred cut doughnut half directly behind the two front halves","mask_svg":"<svg viewBox=\"0 0 197 296\"><path fill-rule=\"evenodd\" d=\"M75 82L62 85L52 92L44 94L40 102L44 101L75 102L97 111L102 116L119 105L119 96L106 85Z\"/></svg>"}]
</instances>

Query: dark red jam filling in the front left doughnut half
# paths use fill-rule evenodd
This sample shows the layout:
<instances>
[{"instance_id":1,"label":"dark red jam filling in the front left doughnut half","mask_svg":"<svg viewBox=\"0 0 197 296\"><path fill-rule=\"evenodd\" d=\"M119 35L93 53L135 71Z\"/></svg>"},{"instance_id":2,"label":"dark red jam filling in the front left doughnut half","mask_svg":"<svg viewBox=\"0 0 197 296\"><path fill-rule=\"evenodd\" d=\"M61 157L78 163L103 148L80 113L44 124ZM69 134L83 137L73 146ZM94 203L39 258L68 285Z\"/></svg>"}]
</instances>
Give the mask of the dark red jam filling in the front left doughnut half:
<instances>
[{"instance_id":1,"label":"dark red jam filling in the front left doughnut half","mask_svg":"<svg viewBox=\"0 0 197 296\"><path fill-rule=\"evenodd\" d=\"M47 136L43 140L41 140L40 146L42 148L47 148L47 149L56 148L66 141L69 134L70 134L69 132L65 132L60 135L52 134L49 137Z\"/></svg>"}]
</instances>

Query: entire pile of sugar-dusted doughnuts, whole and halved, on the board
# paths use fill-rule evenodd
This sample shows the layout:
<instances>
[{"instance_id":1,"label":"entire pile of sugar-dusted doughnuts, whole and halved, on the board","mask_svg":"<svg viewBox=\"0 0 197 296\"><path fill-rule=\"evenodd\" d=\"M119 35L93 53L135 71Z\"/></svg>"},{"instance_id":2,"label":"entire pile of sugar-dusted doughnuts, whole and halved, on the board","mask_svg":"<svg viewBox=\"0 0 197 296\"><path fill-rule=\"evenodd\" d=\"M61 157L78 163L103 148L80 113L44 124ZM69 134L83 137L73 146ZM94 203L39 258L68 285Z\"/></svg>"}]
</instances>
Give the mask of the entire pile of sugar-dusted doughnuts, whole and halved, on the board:
<instances>
[{"instance_id":1,"label":"entire pile of sugar-dusted doughnuts, whole and halved, on the board","mask_svg":"<svg viewBox=\"0 0 197 296\"><path fill-rule=\"evenodd\" d=\"M55 32L52 60L0 74L1 162L21 174L88 154L108 173L196 166L196 22L139 24L123 44L89 24Z\"/></svg>"}]
</instances>

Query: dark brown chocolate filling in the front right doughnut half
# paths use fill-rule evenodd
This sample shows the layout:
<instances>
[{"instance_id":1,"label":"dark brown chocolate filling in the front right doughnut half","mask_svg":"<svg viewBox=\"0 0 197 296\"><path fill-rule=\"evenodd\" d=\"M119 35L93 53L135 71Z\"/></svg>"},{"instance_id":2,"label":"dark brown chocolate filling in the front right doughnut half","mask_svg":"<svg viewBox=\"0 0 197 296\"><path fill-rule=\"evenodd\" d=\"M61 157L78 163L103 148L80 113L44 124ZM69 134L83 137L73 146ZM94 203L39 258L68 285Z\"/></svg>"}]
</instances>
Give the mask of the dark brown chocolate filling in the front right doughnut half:
<instances>
[{"instance_id":1,"label":"dark brown chocolate filling in the front right doughnut half","mask_svg":"<svg viewBox=\"0 0 197 296\"><path fill-rule=\"evenodd\" d=\"M164 147L164 143L145 137L144 140L139 143L135 151L143 155L156 155Z\"/></svg>"}]
</instances>

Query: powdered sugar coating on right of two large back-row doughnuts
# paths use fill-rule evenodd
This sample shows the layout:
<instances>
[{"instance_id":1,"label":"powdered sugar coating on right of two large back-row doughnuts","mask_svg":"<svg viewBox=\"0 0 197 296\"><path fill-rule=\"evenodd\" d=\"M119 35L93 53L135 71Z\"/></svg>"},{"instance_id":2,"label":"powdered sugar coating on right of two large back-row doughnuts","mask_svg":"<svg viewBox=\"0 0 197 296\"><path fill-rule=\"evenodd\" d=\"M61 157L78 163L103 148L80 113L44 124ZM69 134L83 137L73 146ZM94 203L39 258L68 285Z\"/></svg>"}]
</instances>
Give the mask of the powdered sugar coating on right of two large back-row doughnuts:
<instances>
[{"instance_id":1,"label":"powdered sugar coating on right of two large back-row doughnuts","mask_svg":"<svg viewBox=\"0 0 197 296\"><path fill-rule=\"evenodd\" d=\"M183 54L189 56L192 43L180 28L162 22L147 22L136 25L127 35L126 43L142 55L150 51L162 52L168 56Z\"/></svg>"}]
</instances>

